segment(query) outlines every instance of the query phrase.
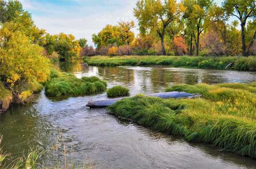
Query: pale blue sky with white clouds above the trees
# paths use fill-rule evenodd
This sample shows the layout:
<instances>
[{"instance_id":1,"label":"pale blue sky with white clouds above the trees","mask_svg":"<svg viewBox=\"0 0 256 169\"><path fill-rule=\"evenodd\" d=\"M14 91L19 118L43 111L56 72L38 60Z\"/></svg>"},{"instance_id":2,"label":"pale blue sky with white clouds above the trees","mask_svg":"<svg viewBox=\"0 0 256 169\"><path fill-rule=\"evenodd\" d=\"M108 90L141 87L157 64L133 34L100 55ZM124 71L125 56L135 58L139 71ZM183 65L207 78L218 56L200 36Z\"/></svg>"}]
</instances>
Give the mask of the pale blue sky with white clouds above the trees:
<instances>
[{"instance_id":1,"label":"pale blue sky with white clouds above the trees","mask_svg":"<svg viewBox=\"0 0 256 169\"><path fill-rule=\"evenodd\" d=\"M92 34L107 24L134 21L137 0L19 0L35 24L50 34L72 34L93 45ZM222 0L215 0L221 4ZM137 27L133 29L137 34Z\"/></svg>"}]
</instances>

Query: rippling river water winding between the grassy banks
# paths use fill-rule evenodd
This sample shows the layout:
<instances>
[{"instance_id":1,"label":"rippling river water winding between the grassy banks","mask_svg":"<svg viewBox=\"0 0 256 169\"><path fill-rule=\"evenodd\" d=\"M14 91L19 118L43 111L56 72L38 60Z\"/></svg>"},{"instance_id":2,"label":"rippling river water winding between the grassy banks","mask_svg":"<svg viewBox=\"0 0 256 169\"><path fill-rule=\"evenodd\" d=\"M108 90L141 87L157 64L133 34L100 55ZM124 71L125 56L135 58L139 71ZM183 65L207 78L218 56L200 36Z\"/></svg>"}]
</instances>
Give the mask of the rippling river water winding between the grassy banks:
<instances>
[{"instance_id":1,"label":"rippling river water winding between the grassy banks","mask_svg":"<svg viewBox=\"0 0 256 169\"><path fill-rule=\"evenodd\" d=\"M167 67L94 67L61 63L57 69L77 77L98 76L108 88L120 84L137 93L162 92L172 84L248 83L255 72ZM47 150L43 165L63 161L90 162L103 169L254 169L256 161L203 143L190 143L135 123L117 119L105 109L86 107L88 101L107 98L95 96L56 98L44 91L34 104L13 106L0 116L4 150L13 157L30 148Z\"/></svg>"}]
</instances>

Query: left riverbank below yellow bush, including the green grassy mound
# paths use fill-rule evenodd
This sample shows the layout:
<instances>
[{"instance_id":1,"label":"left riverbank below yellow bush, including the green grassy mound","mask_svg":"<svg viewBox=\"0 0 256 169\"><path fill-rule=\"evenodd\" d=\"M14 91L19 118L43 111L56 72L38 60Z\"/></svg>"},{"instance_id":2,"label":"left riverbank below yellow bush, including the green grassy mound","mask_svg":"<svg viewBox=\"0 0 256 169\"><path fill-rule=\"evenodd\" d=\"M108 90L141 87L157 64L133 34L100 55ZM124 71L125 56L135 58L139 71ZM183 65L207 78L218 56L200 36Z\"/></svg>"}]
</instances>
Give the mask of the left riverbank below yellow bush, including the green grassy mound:
<instances>
[{"instance_id":1,"label":"left riverbank below yellow bush, including the green grassy mound","mask_svg":"<svg viewBox=\"0 0 256 169\"><path fill-rule=\"evenodd\" d=\"M39 83L35 80L24 82L15 90L7 89L0 81L0 114L7 111L12 104L27 104L33 96L45 87L47 96L92 95L107 90L107 82L98 77L77 78L70 73L50 69L48 81Z\"/></svg>"}]
</instances>

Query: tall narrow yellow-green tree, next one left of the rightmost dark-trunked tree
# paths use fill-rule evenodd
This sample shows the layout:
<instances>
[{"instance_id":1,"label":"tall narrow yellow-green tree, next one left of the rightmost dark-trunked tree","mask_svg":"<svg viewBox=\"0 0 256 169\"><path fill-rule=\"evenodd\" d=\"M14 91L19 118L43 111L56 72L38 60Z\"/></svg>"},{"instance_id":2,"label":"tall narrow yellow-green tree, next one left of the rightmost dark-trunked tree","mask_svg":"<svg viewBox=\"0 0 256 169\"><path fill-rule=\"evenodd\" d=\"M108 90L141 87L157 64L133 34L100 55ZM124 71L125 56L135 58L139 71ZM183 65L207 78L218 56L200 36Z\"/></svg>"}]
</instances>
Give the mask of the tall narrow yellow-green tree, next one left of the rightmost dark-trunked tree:
<instances>
[{"instance_id":1,"label":"tall narrow yellow-green tree, next one left of the rightmost dark-trunked tree","mask_svg":"<svg viewBox=\"0 0 256 169\"><path fill-rule=\"evenodd\" d=\"M208 17L209 9L212 7L212 0L184 0L184 6L187 8L184 17L188 19L191 29L195 29L193 36L196 42L196 56L199 55L200 35L204 31L204 21Z\"/></svg>"}]
</instances>

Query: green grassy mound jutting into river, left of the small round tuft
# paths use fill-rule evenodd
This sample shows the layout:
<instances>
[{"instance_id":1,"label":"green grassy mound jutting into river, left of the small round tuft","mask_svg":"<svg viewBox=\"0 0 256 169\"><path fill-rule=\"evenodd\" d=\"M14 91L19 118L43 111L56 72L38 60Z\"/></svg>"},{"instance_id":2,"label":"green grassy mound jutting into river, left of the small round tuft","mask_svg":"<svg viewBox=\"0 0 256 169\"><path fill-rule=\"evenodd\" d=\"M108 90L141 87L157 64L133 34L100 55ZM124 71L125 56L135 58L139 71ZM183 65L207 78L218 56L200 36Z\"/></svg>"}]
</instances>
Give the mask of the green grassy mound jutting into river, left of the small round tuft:
<instances>
[{"instance_id":1,"label":"green grassy mound jutting into river, left of the small round tuft","mask_svg":"<svg viewBox=\"0 0 256 169\"><path fill-rule=\"evenodd\" d=\"M98 77L82 79L68 73L51 71L52 78L45 84L47 96L78 96L91 95L106 91L107 83Z\"/></svg>"}]
</instances>

